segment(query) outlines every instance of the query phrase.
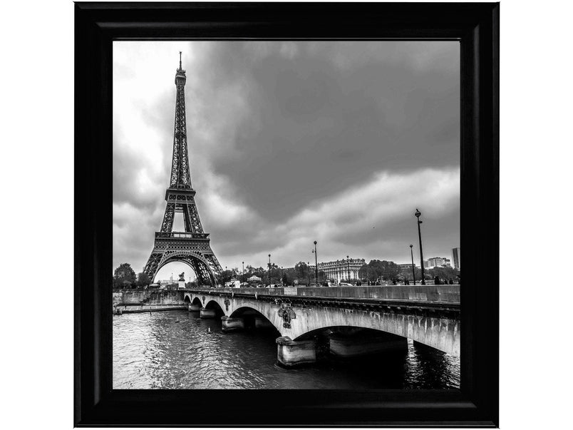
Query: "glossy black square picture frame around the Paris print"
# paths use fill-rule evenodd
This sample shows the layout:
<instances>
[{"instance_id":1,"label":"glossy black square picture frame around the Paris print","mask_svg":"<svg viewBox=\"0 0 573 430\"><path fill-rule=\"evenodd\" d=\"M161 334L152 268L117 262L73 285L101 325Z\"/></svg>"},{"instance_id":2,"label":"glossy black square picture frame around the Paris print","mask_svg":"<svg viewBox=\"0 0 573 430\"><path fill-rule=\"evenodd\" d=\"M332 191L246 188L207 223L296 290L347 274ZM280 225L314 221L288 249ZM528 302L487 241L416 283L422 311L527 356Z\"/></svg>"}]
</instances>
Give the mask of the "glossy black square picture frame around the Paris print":
<instances>
[{"instance_id":1,"label":"glossy black square picture frame around the Paris print","mask_svg":"<svg viewBox=\"0 0 573 430\"><path fill-rule=\"evenodd\" d=\"M499 3L76 3L75 426L498 425ZM113 390L112 41L458 39L459 390ZM478 267L490 267L487 280Z\"/></svg>"}]
</instances>

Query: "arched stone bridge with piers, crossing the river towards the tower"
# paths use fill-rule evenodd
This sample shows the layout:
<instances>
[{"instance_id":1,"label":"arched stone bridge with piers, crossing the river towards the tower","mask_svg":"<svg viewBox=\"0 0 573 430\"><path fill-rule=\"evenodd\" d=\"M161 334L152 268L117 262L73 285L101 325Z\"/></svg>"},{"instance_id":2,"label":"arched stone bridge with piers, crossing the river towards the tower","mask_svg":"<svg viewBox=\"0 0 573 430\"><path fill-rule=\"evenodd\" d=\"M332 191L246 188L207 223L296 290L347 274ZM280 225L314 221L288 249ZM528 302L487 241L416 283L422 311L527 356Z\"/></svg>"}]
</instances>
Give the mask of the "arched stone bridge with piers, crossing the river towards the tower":
<instances>
[{"instance_id":1,"label":"arched stone bridge with piers, crossing the river towards the tower","mask_svg":"<svg viewBox=\"0 0 573 430\"><path fill-rule=\"evenodd\" d=\"M338 357L404 348L406 339L460 354L460 286L285 287L182 290L202 318L222 329L274 328L284 366L316 361L326 338Z\"/></svg>"}]
</instances>

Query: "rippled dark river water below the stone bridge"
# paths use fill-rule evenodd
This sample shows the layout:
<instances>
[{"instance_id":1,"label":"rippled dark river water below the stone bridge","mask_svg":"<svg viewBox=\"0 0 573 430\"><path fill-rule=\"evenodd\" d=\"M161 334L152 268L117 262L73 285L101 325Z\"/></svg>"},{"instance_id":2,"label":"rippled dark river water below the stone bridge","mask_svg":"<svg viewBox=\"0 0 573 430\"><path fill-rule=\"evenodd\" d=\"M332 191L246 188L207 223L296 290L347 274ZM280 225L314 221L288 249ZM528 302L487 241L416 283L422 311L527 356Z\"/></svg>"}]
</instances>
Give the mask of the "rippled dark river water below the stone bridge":
<instances>
[{"instance_id":1,"label":"rippled dark river water below the stone bridge","mask_svg":"<svg viewBox=\"0 0 573 430\"><path fill-rule=\"evenodd\" d=\"M113 316L114 389L440 389L460 387L460 360L408 350L303 369L276 365L277 332L223 333L218 319L165 311Z\"/></svg>"}]
</instances>

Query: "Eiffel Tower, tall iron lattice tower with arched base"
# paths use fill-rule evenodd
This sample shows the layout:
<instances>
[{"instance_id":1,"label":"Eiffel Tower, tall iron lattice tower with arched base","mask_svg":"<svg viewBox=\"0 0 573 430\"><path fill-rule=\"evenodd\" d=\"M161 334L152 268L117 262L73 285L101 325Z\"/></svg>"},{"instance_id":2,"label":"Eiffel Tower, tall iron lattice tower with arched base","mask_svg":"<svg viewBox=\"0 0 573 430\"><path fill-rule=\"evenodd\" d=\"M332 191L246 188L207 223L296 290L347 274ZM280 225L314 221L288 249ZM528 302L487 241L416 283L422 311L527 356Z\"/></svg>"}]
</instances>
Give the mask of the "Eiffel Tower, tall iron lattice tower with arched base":
<instances>
[{"instance_id":1,"label":"Eiffel Tower, tall iron lattice tower with arched base","mask_svg":"<svg viewBox=\"0 0 573 430\"><path fill-rule=\"evenodd\" d=\"M209 233L203 232L197 206L195 190L191 186L189 158L187 157L187 125L185 123L185 70L181 67L175 73L177 98L175 99L175 132L173 137L173 158L171 179L165 191L165 215L161 231L155 232L153 250L143 272L154 279L161 267L170 262L184 262L192 267L200 285L217 285L221 265L210 245ZM175 213L183 214L185 232L174 232Z\"/></svg>"}]
</instances>

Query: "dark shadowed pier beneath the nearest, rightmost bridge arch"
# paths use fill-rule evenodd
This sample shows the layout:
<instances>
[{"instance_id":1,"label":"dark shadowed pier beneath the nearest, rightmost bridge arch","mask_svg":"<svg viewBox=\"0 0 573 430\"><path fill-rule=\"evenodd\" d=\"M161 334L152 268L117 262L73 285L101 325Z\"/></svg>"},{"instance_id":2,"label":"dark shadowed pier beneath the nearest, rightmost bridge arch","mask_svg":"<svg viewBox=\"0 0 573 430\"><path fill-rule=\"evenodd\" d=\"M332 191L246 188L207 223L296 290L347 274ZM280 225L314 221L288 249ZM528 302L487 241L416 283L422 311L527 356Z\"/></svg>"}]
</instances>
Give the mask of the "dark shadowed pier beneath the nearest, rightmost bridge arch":
<instances>
[{"instance_id":1,"label":"dark shadowed pier beneath the nearest, rightmost bridge arch","mask_svg":"<svg viewBox=\"0 0 573 430\"><path fill-rule=\"evenodd\" d=\"M344 334L332 333L329 335L329 349L331 355L338 359L351 359L408 349L408 339L394 334L344 336Z\"/></svg>"}]
</instances>

